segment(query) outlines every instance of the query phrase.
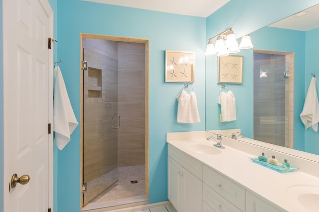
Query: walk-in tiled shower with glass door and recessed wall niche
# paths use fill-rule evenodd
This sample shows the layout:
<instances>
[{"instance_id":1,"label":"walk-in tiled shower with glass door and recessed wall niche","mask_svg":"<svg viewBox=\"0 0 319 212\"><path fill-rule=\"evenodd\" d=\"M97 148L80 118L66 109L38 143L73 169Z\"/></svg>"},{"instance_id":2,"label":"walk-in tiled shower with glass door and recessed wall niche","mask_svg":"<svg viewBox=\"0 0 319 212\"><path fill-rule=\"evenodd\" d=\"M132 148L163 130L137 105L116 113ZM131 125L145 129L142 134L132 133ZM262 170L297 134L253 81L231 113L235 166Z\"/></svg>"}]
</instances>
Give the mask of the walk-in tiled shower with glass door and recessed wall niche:
<instances>
[{"instance_id":1,"label":"walk-in tiled shower with glass door and recessed wall niche","mask_svg":"<svg viewBox=\"0 0 319 212\"><path fill-rule=\"evenodd\" d=\"M82 39L83 211L148 202L145 44Z\"/></svg>"}]
</instances>

